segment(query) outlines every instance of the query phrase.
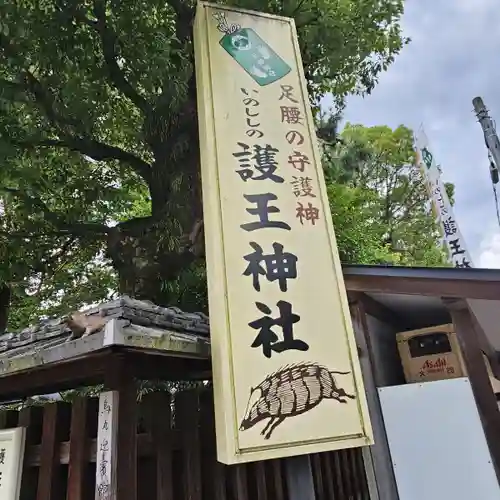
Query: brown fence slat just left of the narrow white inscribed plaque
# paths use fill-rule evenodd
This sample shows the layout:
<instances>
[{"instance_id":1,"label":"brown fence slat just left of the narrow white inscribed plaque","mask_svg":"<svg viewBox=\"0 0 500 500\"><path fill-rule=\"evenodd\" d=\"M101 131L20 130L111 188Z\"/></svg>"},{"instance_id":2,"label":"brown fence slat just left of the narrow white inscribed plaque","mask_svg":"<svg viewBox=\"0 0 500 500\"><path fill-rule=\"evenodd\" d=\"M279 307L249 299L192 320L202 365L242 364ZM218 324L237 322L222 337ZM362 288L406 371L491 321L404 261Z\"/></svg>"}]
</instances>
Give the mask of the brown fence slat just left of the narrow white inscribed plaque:
<instances>
[{"instance_id":1,"label":"brown fence slat just left of the narrow white inscribed plaque","mask_svg":"<svg viewBox=\"0 0 500 500\"><path fill-rule=\"evenodd\" d=\"M87 465L87 399L77 398L71 411L66 500L83 500Z\"/></svg>"}]
</instances>

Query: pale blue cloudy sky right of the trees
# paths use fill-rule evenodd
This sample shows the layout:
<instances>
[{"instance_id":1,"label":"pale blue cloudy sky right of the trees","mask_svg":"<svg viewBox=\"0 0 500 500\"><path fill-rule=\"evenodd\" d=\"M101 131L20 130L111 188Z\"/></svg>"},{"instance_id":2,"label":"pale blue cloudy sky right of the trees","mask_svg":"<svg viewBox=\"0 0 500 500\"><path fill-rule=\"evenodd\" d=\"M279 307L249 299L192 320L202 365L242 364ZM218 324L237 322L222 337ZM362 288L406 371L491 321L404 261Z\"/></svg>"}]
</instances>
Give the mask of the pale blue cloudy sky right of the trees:
<instances>
[{"instance_id":1,"label":"pale blue cloudy sky right of the trees","mask_svg":"<svg viewBox=\"0 0 500 500\"><path fill-rule=\"evenodd\" d=\"M412 41L370 96L348 100L344 119L414 130L423 123L443 181L455 184L455 217L474 266L500 268L487 150L472 111L481 96L500 123L500 2L407 0L402 26Z\"/></svg>"}]
</instances>

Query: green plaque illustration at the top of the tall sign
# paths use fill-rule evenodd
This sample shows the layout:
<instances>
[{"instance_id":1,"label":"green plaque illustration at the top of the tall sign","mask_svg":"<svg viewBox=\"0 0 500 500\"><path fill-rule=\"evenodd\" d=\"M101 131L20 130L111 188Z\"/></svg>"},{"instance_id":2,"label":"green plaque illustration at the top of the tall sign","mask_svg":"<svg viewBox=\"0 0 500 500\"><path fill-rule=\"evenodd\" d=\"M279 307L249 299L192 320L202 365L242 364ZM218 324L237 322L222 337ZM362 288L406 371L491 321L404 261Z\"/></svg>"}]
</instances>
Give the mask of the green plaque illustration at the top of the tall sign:
<instances>
[{"instance_id":1,"label":"green plaque illustration at the top of the tall sign","mask_svg":"<svg viewBox=\"0 0 500 500\"><path fill-rule=\"evenodd\" d=\"M220 44L260 86L280 80L292 70L251 28L226 33Z\"/></svg>"}]
</instances>

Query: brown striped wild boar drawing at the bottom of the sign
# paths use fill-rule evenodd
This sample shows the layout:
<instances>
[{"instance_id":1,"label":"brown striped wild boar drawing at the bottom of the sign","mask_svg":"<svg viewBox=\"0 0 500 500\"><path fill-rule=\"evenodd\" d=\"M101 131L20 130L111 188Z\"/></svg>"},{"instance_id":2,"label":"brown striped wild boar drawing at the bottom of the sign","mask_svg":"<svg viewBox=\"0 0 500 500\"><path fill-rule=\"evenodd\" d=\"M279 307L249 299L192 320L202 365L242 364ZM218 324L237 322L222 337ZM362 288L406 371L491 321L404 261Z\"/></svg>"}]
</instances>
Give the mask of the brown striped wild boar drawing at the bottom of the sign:
<instances>
[{"instance_id":1,"label":"brown striped wild boar drawing at the bottom of the sign","mask_svg":"<svg viewBox=\"0 0 500 500\"><path fill-rule=\"evenodd\" d=\"M347 403L356 397L338 387L334 375L350 372L328 370L318 363L301 362L286 365L268 375L257 387L250 389L245 417L240 431L270 419L261 435L269 439L278 425L289 417L302 415L319 405L323 399Z\"/></svg>"}]
</instances>

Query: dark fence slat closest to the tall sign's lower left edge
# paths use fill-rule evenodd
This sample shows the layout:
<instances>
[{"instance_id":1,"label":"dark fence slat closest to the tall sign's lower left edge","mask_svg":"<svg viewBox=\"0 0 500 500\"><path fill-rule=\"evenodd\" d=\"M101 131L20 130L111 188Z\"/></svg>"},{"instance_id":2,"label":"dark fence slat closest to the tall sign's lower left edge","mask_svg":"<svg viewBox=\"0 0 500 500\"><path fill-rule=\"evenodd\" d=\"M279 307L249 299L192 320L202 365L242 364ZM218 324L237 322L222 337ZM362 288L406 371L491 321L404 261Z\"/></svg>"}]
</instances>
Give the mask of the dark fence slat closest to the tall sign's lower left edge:
<instances>
[{"instance_id":1,"label":"dark fence slat closest to the tall sign's lower left edge","mask_svg":"<svg viewBox=\"0 0 500 500\"><path fill-rule=\"evenodd\" d=\"M175 405L175 422L182 435L184 494L189 500L202 500L198 395L196 390L182 391Z\"/></svg>"}]
</instances>

